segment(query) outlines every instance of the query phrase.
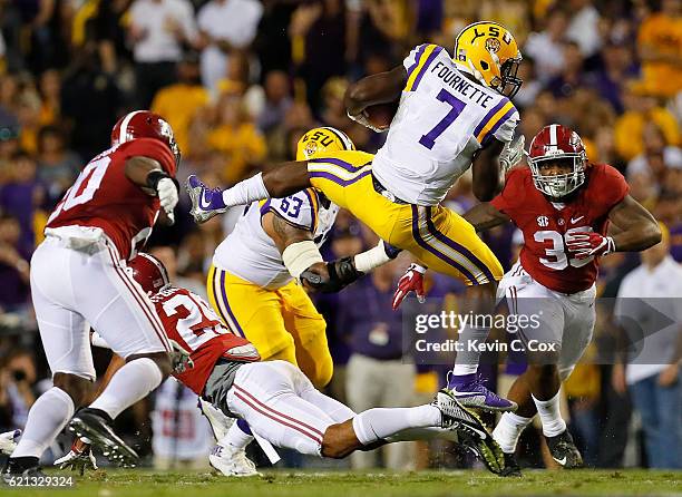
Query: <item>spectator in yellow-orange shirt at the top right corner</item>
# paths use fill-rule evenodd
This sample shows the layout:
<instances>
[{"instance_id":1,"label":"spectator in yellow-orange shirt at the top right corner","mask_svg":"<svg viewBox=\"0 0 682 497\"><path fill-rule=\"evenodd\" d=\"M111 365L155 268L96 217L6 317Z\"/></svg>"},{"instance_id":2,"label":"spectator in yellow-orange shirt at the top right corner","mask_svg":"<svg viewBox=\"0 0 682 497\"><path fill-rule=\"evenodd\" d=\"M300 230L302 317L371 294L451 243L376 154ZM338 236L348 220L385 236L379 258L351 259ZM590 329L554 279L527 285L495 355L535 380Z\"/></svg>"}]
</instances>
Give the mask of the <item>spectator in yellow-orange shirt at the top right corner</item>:
<instances>
[{"instance_id":1,"label":"spectator in yellow-orange shirt at the top right corner","mask_svg":"<svg viewBox=\"0 0 682 497\"><path fill-rule=\"evenodd\" d=\"M637 49L646 89L660 97L682 90L682 8L680 0L663 0L661 11L640 27Z\"/></svg>"}]
</instances>

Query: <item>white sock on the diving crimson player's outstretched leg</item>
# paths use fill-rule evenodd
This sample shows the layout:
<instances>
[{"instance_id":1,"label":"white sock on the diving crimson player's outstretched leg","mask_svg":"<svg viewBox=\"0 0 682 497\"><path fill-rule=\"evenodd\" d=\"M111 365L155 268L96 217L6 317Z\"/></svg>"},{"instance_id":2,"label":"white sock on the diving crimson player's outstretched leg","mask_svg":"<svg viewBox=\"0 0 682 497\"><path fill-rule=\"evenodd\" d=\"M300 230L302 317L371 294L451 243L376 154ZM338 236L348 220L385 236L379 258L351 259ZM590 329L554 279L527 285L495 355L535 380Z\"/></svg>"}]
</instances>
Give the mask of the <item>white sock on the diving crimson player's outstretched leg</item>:
<instances>
[{"instance_id":1,"label":"white sock on the diving crimson player's outstretched leg","mask_svg":"<svg viewBox=\"0 0 682 497\"><path fill-rule=\"evenodd\" d=\"M430 403L418 407L374 408L353 418L353 430L362 445L396 435L407 428L440 426L440 411Z\"/></svg>"}]
</instances>

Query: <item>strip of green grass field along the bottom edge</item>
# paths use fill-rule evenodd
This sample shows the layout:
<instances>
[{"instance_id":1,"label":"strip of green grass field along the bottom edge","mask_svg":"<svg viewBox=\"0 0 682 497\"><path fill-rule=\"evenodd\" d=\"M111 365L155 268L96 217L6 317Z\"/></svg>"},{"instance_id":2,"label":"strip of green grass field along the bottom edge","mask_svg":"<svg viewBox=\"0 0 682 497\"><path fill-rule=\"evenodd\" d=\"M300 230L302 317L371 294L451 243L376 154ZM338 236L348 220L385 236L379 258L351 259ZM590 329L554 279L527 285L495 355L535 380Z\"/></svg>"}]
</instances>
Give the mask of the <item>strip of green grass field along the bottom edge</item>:
<instances>
[{"instance_id":1,"label":"strip of green grass field along the bottom edge","mask_svg":"<svg viewBox=\"0 0 682 497\"><path fill-rule=\"evenodd\" d=\"M64 475L64 474L60 474ZM290 472L226 479L208 472L100 470L75 477L64 490L16 490L16 495L127 497L370 497L370 496L516 496L516 495L681 495L682 471L579 470L526 471L520 479L483 471ZM0 494L12 490L0 488Z\"/></svg>"}]
</instances>

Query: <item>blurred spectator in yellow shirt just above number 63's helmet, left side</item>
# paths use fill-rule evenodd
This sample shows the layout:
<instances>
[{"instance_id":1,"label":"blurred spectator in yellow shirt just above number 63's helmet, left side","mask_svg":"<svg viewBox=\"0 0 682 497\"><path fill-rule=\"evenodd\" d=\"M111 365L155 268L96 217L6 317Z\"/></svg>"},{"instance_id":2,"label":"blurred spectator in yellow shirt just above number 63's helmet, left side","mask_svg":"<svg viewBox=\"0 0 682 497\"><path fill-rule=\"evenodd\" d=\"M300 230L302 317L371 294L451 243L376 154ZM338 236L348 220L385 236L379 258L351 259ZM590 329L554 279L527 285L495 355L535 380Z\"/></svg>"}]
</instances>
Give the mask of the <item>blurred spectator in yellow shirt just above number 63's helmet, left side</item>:
<instances>
[{"instance_id":1,"label":"blurred spectator in yellow shirt just above number 63's helmet, left side","mask_svg":"<svg viewBox=\"0 0 682 497\"><path fill-rule=\"evenodd\" d=\"M215 124L206 136L206 145L225 157L220 174L224 182L234 184L249 174L251 166L264 159L265 139L249 119L242 95L232 86L218 99Z\"/></svg>"}]
</instances>

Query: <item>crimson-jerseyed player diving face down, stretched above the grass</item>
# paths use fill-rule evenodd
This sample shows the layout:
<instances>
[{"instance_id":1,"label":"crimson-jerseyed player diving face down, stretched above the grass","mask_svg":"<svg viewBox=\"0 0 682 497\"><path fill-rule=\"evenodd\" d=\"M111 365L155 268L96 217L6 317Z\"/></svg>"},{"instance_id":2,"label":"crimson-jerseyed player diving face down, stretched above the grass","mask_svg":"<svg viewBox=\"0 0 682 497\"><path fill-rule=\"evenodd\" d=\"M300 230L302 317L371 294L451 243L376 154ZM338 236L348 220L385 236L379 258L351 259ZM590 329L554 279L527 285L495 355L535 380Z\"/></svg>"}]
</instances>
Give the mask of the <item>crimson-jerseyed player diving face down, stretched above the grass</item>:
<instances>
[{"instance_id":1,"label":"crimson-jerseyed player diving face down, stretched above the grass","mask_svg":"<svg viewBox=\"0 0 682 497\"><path fill-rule=\"evenodd\" d=\"M182 352L173 376L217 410L246 421L250 429L272 445L311 456L342 458L391 441L451 438L457 432L459 444L474 451L493 472L501 472L501 450L478 417L448 391L439 392L429 405L355 413L315 390L290 362L261 362L255 347L227 330L208 303L172 286L165 267L154 256L139 254L129 267L154 302L168 339ZM243 428L234 423L230 429ZM235 439L230 435L226 438ZM222 458L241 460L247 467L250 461L243 450L253 437L242 432L241 438L240 447L221 446L224 454L212 454L212 465L217 467L216 459ZM82 445L78 452L66 460L69 466L82 465L90 457ZM252 472L242 475L254 474L252 464L251 468Z\"/></svg>"}]
</instances>

